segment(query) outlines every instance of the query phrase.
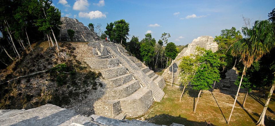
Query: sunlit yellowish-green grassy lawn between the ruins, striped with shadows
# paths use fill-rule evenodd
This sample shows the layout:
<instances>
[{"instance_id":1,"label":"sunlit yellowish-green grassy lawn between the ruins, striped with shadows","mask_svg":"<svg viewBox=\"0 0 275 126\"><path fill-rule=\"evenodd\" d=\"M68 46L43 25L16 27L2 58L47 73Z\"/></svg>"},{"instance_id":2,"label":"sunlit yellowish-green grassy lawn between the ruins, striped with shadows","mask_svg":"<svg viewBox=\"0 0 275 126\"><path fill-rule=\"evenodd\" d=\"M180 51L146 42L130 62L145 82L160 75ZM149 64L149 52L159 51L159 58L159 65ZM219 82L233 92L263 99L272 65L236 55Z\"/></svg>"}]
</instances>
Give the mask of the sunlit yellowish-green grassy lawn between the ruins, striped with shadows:
<instances>
[{"instance_id":1,"label":"sunlit yellowish-green grassy lawn between the ruins, striped with shadows","mask_svg":"<svg viewBox=\"0 0 275 126\"><path fill-rule=\"evenodd\" d=\"M193 113L198 91L188 88L179 102L182 89L171 87L166 84L164 87L165 95L161 102L154 102L148 112L137 117L138 120L147 120L151 123L160 125L171 125L174 123L186 126L206 125L205 121L210 121L212 126L227 125L236 92L216 89L214 92L203 91L199 99L196 113ZM266 92L267 94L268 92ZM230 126L253 126L258 121L262 113L266 97L262 98L262 93L252 91L247 97L245 109L240 106L243 102L245 93L239 93L235 105ZM266 95L267 96L267 95ZM275 98L274 94L266 111L265 125L275 125Z\"/></svg>"}]
</instances>

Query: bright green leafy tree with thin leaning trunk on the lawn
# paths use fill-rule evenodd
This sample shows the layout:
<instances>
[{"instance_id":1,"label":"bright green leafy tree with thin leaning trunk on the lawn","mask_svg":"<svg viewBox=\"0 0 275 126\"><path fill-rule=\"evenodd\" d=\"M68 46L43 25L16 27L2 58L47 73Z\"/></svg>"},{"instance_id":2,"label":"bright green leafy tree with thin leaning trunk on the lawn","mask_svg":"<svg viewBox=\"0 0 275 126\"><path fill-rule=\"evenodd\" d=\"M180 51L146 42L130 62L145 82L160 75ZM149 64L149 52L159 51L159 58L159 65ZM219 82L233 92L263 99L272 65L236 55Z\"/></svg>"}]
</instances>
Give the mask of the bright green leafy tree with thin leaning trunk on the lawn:
<instances>
[{"instance_id":1,"label":"bright green leafy tree with thin leaning trunk on the lawn","mask_svg":"<svg viewBox=\"0 0 275 126\"><path fill-rule=\"evenodd\" d=\"M191 82L193 89L199 90L194 113L196 113L201 91L212 88L213 82L219 82L220 79L218 68L221 65L221 61L219 60L219 56L217 56L216 53L213 53L211 50L205 50L203 56L200 56L198 60L200 65Z\"/></svg>"}]
</instances>

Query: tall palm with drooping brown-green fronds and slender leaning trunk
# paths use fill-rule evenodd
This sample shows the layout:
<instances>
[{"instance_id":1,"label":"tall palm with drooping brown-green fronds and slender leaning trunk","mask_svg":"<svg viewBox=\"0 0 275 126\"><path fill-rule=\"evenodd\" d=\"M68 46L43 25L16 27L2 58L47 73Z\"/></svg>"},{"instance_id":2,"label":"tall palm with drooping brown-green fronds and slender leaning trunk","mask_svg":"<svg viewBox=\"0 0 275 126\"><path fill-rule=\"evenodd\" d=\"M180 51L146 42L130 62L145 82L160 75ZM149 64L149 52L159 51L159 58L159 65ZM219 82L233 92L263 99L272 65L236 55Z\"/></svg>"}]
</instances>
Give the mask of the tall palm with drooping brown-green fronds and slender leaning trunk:
<instances>
[{"instance_id":1,"label":"tall palm with drooping brown-green fronds and slender leaning trunk","mask_svg":"<svg viewBox=\"0 0 275 126\"><path fill-rule=\"evenodd\" d=\"M249 68L254 61L256 62L260 60L264 54L269 53L269 51L275 46L275 42L273 41L274 29L268 20L255 21L255 24L252 28L243 27L242 32L246 37L236 41L233 44L233 49L231 51L233 56L239 55L241 57L244 68L227 124L229 124L231 115L233 113L233 109L241 87L241 81L243 79L243 75L245 75L246 68ZM264 120L264 118L262 120Z\"/></svg>"}]
</instances>

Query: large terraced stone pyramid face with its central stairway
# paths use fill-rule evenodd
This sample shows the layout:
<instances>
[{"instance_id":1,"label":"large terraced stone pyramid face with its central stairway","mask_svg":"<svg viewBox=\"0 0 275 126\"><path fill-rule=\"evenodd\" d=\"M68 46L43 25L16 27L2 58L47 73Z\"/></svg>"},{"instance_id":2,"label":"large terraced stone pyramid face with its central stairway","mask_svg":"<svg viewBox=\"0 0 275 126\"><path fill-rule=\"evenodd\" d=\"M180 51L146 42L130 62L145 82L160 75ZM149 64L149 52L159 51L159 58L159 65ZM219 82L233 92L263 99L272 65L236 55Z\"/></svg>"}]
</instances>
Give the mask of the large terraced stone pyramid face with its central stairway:
<instances>
[{"instance_id":1,"label":"large terraced stone pyramid face with its central stairway","mask_svg":"<svg viewBox=\"0 0 275 126\"><path fill-rule=\"evenodd\" d=\"M90 42L91 56L83 60L102 74L102 97L95 101L94 111L114 119L137 117L144 114L154 101L164 95L163 77L142 64L119 44Z\"/></svg>"}]
</instances>

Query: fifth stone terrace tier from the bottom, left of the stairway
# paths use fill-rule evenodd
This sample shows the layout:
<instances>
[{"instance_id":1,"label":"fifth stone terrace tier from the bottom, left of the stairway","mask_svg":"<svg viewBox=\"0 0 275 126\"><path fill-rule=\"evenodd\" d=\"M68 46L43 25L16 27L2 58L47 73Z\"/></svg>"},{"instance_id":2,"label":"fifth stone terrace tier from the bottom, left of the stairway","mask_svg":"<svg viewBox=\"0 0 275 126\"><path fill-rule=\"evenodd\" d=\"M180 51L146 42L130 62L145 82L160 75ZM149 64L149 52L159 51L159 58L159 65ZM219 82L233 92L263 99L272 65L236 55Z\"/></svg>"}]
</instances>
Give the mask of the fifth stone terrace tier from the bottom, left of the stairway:
<instances>
[{"instance_id":1,"label":"fifth stone terrace tier from the bottom, left of the stairway","mask_svg":"<svg viewBox=\"0 0 275 126\"><path fill-rule=\"evenodd\" d=\"M84 60L92 69L100 70L119 66L117 58L100 59L100 60Z\"/></svg>"}]
</instances>

